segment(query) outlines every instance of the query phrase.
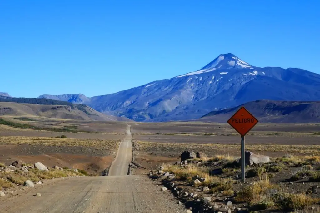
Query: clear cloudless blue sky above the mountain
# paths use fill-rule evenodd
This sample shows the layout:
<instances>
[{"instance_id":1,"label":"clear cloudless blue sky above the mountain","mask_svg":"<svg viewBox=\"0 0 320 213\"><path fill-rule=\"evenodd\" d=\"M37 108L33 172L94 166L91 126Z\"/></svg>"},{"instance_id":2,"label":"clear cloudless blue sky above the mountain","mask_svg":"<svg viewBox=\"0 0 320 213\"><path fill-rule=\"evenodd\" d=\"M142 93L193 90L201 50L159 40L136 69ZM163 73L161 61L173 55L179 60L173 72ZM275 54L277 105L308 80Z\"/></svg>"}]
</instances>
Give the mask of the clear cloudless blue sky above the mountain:
<instances>
[{"instance_id":1,"label":"clear cloudless blue sky above the mountain","mask_svg":"<svg viewBox=\"0 0 320 213\"><path fill-rule=\"evenodd\" d=\"M221 53L320 73L320 1L0 0L0 91L106 95Z\"/></svg>"}]
</instances>

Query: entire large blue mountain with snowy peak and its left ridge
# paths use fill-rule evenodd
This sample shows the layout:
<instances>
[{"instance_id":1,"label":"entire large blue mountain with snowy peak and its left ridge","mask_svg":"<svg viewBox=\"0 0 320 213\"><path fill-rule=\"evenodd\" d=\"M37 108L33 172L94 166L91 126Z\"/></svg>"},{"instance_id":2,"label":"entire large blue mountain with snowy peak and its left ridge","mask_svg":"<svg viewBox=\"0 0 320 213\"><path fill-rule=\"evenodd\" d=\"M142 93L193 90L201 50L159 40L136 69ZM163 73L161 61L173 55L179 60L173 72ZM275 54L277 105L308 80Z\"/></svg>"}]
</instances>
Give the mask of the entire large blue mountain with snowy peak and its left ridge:
<instances>
[{"instance_id":1,"label":"entire large blue mountain with snowy peak and its left ridge","mask_svg":"<svg viewBox=\"0 0 320 213\"><path fill-rule=\"evenodd\" d=\"M196 72L110 95L40 97L81 100L100 112L135 121L187 120L261 99L320 101L320 75L297 68L256 67L228 53Z\"/></svg>"}]
</instances>

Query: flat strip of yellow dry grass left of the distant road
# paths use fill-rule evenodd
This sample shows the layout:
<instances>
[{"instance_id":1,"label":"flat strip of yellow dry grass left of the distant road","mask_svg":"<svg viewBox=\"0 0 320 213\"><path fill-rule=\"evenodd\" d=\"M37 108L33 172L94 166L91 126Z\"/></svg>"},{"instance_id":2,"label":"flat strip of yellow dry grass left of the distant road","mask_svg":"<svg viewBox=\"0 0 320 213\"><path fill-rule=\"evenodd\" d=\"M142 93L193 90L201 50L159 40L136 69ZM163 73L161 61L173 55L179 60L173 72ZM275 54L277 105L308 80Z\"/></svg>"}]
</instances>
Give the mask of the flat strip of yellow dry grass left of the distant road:
<instances>
[{"instance_id":1,"label":"flat strip of yellow dry grass left of the distant road","mask_svg":"<svg viewBox=\"0 0 320 213\"><path fill-rule=\"evenodd\" d=\"M41 146L81 146L117 149L120 140L94 140L74 138L46 138L46 137L24 137L24 136L0 136L0 144L13 145L41 145Z\"/></svg>"}]
</instances>

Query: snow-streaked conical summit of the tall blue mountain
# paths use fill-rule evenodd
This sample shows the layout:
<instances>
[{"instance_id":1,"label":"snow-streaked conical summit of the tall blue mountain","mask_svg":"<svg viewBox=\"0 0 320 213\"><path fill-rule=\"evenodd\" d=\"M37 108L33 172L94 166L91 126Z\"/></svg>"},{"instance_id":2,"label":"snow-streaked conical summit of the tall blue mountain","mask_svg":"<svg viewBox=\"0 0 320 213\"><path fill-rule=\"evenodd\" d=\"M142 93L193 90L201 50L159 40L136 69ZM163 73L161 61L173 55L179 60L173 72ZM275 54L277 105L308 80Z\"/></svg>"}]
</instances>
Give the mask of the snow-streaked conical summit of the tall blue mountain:
<instances>
[{"instance_id":1,"label":"snow-streaked conical summit of the tall blue mountain","mask_svg":"<svg viewBox=\"0 0 320 213\"><path fill-rule=\"evenodd\" d=\"M252 65L244 62L240 58L236 57L232 53L228 54L220 54L218 57L216 57L212 62L205 65L203 68L196 72L189 72L184 75L177 76L176 78L185 77L189 75L195 75L195 74L201 74L205 72L212 72L219 69L243 69L243 68L250 68L254 69Z\"/></svg>"}]
</instances>

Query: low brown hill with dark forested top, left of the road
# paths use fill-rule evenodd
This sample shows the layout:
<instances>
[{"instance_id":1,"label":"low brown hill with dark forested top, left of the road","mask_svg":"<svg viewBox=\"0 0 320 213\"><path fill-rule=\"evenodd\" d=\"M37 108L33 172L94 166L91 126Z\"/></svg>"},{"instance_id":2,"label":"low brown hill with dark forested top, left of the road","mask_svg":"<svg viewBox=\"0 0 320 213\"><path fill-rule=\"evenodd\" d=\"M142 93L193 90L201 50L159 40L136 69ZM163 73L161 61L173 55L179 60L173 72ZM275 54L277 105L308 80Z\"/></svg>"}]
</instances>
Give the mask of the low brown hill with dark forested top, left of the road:
<instances>
[{"instance_id":1,"label":"low brown hill with dark forested top, left of the road","mask_svg":"<svg viewBox=\"0 0 320 213\"><path fill-rule=\"evenodd\" d=\"M131 121L98 112L84 104L50 100L45 98L10 98L0 96L0 116L41 116L97 121Z\"/></svg>"}]
</instances>

